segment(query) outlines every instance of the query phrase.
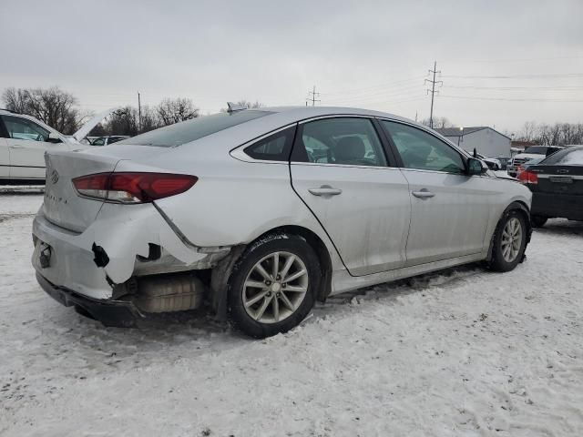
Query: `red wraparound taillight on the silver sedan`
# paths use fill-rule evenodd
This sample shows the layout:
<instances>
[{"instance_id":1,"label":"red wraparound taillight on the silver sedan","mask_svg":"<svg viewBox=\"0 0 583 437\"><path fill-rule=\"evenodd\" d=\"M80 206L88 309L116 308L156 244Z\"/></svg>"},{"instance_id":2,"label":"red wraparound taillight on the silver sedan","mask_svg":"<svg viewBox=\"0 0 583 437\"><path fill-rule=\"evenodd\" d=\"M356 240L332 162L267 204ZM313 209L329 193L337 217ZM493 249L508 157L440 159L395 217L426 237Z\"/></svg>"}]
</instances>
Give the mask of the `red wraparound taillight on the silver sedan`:
<instances>
[{"instance_id":1,"label":"red wraparound taillight on the silver sedan","mask_svg":"<svg viewBox=\"0 0 583 437\"><path fill-rule=\"evenodd\" d=\"M108 202L147 203L183 193L199 180L169 173L97 173L73 179L77 193Z\"/></svg>"}]
</instances>

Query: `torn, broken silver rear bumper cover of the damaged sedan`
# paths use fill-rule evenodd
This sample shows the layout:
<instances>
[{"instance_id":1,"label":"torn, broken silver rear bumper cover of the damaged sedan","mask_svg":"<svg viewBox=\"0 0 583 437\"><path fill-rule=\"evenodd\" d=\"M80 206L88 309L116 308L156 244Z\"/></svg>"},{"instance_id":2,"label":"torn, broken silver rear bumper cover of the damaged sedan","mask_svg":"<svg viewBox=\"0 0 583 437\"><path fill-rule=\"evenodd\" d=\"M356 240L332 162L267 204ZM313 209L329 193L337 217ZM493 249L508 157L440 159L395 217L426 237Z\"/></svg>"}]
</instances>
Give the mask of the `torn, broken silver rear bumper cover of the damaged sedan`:
<instances>
[{"instance_id":1,"label":"torn, broken silver rear bumper cover of the damaged sedan","mask_svg":"<svg viewBox=\"0 0 583 437\"><path fill-rule=\"evenodd\" d=\"M56 287L94 300L115 300L133 277L212 269L229 247L189 245L151 204L104 204L83 232L63 229L42 211L33 222L36 272ZM158 248L158 250L152 250Z\"/></svg>"}]
</instances>

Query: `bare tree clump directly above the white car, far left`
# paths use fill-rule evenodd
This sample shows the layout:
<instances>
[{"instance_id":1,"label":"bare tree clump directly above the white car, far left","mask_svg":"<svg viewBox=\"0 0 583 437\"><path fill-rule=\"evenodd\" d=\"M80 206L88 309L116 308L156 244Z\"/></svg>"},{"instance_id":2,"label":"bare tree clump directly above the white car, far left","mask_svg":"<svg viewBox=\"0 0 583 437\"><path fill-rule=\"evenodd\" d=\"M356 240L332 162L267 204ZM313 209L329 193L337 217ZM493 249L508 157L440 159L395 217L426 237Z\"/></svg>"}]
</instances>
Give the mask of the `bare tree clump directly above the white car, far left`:
<instances>
[{"instance_id":1,"label":"bare tree clump directly above the white car, far left","mask_svg":"<svg viewBox=\"0 0 583 437\"><path fill-rule=\"evenodd\" d=\"M58 86L7 88L2 98L6 109L36 117L64 134L72 134L79 127L77 98Z\"/></svg>"}]
</instances>

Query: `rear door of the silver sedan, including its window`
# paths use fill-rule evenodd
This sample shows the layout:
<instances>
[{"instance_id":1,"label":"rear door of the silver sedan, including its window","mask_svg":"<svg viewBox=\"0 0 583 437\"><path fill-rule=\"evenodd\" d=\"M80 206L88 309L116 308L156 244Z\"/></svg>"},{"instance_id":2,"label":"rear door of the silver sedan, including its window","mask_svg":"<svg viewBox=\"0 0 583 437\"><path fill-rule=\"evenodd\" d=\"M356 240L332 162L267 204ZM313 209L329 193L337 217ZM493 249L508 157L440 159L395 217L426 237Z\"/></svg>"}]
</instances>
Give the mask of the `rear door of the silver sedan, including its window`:
<instances>
[{"instance_id":1,"label":"rear door of the silver sedan, including its window","mask_svg":"<svg viewBox=\"0 0 583 437\"><path fill-rule=\"evenodd\" d=\"M404 266L411 202L391 164L372 119L326 117L298 127L292 187L354 276Z\"/></svg>"}]
</instances>

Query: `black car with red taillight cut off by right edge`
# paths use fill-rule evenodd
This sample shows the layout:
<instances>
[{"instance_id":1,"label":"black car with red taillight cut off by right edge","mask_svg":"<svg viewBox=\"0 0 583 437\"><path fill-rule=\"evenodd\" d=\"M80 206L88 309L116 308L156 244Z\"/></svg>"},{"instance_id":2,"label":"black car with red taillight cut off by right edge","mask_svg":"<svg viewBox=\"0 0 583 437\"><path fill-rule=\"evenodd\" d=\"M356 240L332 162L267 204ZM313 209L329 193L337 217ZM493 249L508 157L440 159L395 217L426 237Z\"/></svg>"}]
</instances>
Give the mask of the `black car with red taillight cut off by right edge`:
<instances>
[{"instance_id":1,"label":"black car with red taillight cut off by right edge","mask_svg":"<svg viewBox=\"0 0 583 437\"><path fill-rule=\"evenodd\" d=\"M568 147L528 166L518 179L532 191L532 223L583 220L583 146Z\"/></svg>"}]
</instances>

